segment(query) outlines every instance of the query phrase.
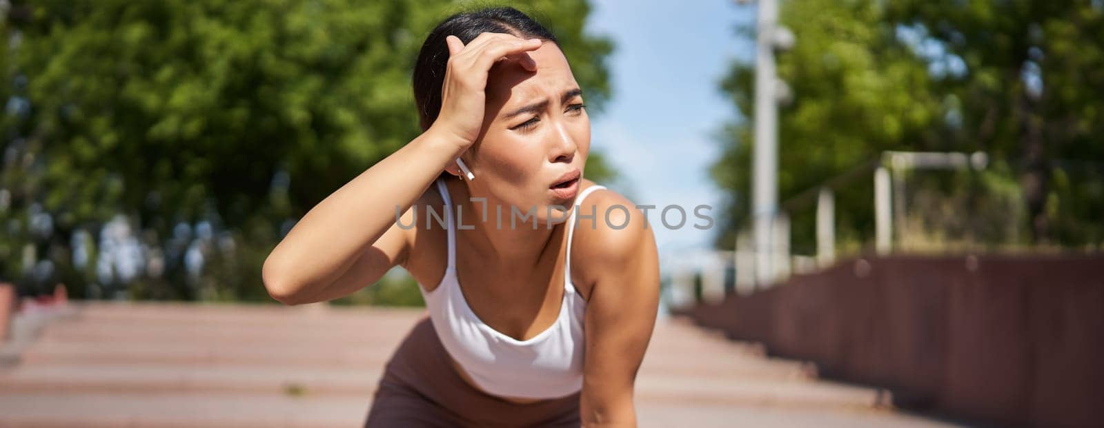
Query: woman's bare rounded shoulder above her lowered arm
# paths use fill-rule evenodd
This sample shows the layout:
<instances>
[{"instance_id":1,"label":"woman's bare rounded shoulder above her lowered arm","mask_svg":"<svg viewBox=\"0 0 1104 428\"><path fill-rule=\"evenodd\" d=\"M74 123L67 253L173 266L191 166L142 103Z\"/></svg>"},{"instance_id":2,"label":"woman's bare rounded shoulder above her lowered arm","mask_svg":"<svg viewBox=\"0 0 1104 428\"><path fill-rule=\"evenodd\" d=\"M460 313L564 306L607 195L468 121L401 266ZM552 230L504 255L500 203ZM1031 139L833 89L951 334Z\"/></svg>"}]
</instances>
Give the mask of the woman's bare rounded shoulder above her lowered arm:
<instances>
[{"instance_id":1,"label":"woman's bare rounded shoulder above her lowered arm","mask_svg":"<svg viewBox=\"0 0 1104 428\"><path fill-rule=\"evenodd\" d=\"M636 203L614 190L599 189L578 202L577 210L572 268L587 287L609 270L658 268L651 225Z\"/></svg>"}]
</instances>

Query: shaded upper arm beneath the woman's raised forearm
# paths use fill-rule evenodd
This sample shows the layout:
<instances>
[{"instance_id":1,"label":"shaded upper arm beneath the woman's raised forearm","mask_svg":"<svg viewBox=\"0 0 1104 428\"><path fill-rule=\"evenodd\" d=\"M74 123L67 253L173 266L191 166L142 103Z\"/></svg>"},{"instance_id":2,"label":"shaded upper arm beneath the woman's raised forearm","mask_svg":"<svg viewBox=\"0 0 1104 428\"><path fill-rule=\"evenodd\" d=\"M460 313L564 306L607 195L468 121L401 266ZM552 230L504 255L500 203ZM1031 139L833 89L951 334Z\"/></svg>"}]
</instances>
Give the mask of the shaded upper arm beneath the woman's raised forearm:
<instances>
[{"instance_id":1,"label":"shaded upper arm beneath the woman's raised forearm","mask_svg":"<svg viewBox=\"0 0 1104 428\"><path fill-rule=\"evenodd\" d=\"M400 221L392 224L379 239L375 239L375 243L361 252L344 272L333 282L310 296L307 302L327 301L349 296L375 283L392 267L405 266L414 242L414 234L417 231L417 227L412 227L412 225L414 225L414 213L418 206L420 204L415 203L406 210ZM400 223L406 228L400 226Z\"/></svg>"}]
</instances>

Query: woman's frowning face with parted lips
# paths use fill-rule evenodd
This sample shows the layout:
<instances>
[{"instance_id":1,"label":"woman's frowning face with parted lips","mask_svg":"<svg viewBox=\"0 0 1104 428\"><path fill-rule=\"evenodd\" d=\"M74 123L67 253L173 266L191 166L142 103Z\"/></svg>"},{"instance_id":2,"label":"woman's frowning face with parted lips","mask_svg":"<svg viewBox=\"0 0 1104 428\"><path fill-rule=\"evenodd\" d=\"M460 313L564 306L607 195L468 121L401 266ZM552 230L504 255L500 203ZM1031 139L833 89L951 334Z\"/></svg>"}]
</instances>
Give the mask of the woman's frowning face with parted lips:
<instances>
[{"instance_id":1,"label":"woman's frowning face with parted lips","mask_svg":"<svg viewBox=\"0 0 1104 428\"><path fill-rule=\"evenodd\" d=\"M476 175L468 183L473 196L488 195L503 204L503 225L509 224L510 205L519 213L535 207L540 225L563 222L591 148L591 119L563 52L544 42L528 55L537 63L535 72L517 60L502 60L490 69L482 133L473 148L475 164L469 165ZM556 186L565 174L577 179ZM493 207L489 214L495 215Z\"/></svg>"}]
</instances>

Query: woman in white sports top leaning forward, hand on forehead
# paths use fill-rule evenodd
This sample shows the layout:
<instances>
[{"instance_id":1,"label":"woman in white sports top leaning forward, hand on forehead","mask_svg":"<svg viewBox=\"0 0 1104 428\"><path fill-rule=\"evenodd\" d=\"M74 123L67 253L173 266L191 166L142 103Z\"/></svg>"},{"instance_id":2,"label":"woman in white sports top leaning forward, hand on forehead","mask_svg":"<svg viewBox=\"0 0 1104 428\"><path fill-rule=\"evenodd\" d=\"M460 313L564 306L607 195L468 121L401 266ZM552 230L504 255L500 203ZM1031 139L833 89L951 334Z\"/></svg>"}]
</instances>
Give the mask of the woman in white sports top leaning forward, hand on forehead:
<instances>
[{"instance_id":1,"label":"woman in white sports top leaning forward, hand on forehead","mask_svg":"<svg viewBox=\"0 0 1104 428\"><path fill-rule=\"evenodd\" d=\"M582 178L591 125L555 36L510 8L453 15L422 46L414 93L424 133L296 224L265 260L268 292L336 299L395 265L417 280L429 317L368 426L635 426L655 238Z\"/></svg>"}]
</instances>

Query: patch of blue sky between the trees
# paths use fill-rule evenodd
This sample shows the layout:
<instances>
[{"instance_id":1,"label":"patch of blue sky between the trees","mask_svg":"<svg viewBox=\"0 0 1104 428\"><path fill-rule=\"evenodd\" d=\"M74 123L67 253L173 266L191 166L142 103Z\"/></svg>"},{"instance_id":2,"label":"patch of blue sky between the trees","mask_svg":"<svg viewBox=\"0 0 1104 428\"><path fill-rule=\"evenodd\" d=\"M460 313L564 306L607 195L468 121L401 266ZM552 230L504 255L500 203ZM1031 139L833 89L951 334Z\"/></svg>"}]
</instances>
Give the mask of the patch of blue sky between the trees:
<instances>
[{"instance_id":1,"label":"patch of blue sky between the trees","mask_svg":"<svg viewBox=\"0 0 1104 428\"><path fill-rule=\"evenodd\" d=\"M616 50L609 61L613 99L592 118L591 145L623 176L612 188L657 206L648 218L661 254L709 248L719 226L692 227L704 224L693 207L710 204L708 214L720 216L720 192L709 179L719 153L712 133L736 114L718 82L732 60L753 57L754 41L733 29L754 17L754 4L731 0L594 1L588 31L613 39ZM672 231L660 223L658 208L675 204L688 220ZM678 213L667 218L676 223Z\"/></svg>"}]
</instances>

